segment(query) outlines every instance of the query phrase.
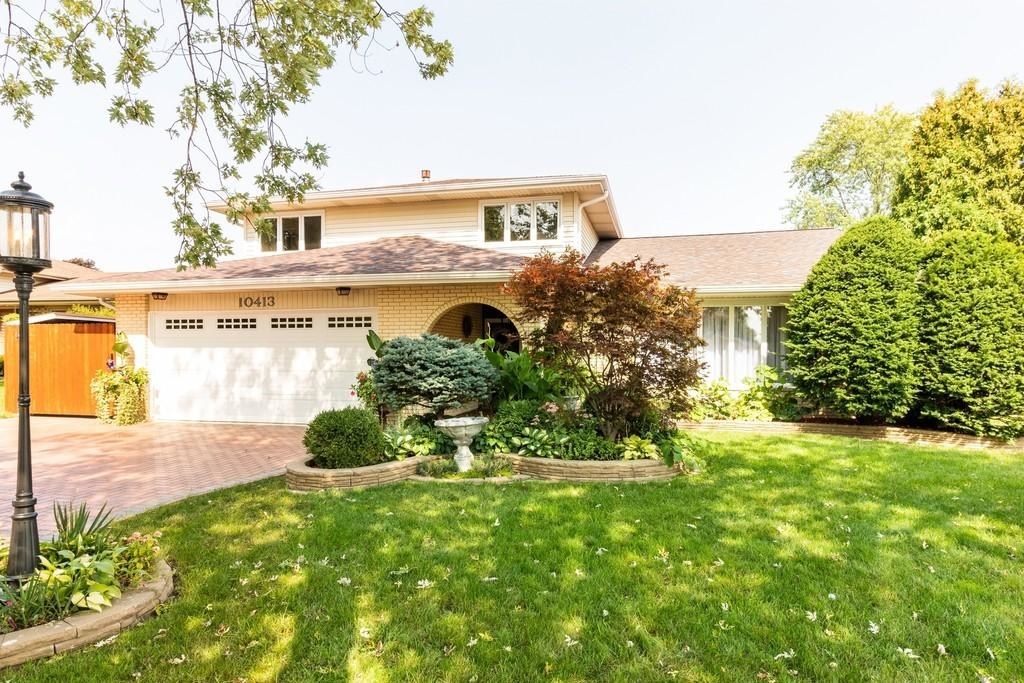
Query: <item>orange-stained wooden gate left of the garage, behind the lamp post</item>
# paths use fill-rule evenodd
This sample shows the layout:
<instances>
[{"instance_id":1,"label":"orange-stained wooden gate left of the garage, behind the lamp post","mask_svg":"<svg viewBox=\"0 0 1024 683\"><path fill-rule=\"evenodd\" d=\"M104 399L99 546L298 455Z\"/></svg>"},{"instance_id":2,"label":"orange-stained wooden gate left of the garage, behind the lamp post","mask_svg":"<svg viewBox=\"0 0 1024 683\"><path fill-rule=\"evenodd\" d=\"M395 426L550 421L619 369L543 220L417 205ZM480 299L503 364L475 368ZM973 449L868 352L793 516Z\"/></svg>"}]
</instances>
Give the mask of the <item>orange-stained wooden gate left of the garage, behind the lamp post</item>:
<instances>
[{"instance_id":1,"label":"orange-stained wooden gate left of the garage, behind the lamp post","mask_svg":"<svg viewBox=\"0 0 1024 683\"><path fill-rule=\"evenodd\" d=\"M29 391L33 415L92 416L89 382L106 368L114 346L114 322L48 321L32 324ZM4 325L4 409L17 413L18 350L16 321Z\"/></svg>"}]
</instances>

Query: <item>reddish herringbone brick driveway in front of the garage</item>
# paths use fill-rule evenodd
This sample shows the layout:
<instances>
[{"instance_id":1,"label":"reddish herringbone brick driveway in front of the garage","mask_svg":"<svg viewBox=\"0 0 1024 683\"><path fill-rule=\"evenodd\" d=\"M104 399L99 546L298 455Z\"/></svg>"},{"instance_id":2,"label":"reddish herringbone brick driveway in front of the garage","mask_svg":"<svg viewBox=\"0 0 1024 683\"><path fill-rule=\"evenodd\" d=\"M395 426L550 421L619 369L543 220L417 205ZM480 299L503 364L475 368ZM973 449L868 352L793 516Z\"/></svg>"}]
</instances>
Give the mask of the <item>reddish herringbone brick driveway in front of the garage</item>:
<instances>
[{"instance_id":1,"label":"reddish herringbone brick driveway in front of the garage","mask_svg":"<svg viewBox=\"0 0 1024 683\"><path fill-rule=\"evenodd\" d=\"M40 538L53 501L104 502L124 516L195 494L284 474L301 458L303 426L145 423L113 427L85 418L32 418L33 488ZM0 420L0 533L10 538L17 418Z\"/></svg>"}]
</instances>

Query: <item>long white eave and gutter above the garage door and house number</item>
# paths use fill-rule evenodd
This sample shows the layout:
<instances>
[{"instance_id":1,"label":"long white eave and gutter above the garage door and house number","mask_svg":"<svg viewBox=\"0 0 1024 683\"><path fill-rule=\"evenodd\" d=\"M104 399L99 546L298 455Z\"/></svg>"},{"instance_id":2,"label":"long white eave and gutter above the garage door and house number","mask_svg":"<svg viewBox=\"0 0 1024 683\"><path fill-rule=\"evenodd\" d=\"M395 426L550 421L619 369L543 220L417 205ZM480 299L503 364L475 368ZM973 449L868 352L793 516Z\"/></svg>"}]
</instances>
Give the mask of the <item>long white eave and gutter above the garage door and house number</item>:
<instances>
[{"instance_id":1,"label":"long white eave and gutter above the garage door and house number","mask_svg":"<svg viewBox=\"0 0 1024 683\"><path fill-rule=\"evenodd\" d=\"M68 284L68 292L92 295L137 294L142 292L243 292L321 289L331 287L387 287L394 285L444 285L451 283L503 283L511 270L462 270L447 272L397 272L352 275L275 275L272 278L220 278L216 280L150 280L131 283Z\"/></svg>"}]
</instances>

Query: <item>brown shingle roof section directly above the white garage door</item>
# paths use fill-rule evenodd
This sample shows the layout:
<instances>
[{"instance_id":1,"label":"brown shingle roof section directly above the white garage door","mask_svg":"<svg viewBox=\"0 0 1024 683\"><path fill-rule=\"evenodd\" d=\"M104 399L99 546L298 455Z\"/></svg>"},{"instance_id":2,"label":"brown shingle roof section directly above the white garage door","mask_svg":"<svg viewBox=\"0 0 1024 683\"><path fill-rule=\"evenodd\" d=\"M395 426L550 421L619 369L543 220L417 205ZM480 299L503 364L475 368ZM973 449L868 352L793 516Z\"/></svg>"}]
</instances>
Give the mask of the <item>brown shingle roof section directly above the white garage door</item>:
<instances>
[{"instance_id":1,"label":"brown shingle roof section directly above the white garage door","mask_svg":"<svg viewBox=\"0 0 1024 683\"><path fill-rule=\"evenodd\" d=\"M388 275L397 273L486 272L512 270L522 257L490 249L465 247L419 237L384 238L373 242L310 251L271 254L221 261L216 268L150 270L91 278L89 285L139 282L195 282L232 279ZM83 281L84 283L84 281Z\"/></svg>"}]
</instances>

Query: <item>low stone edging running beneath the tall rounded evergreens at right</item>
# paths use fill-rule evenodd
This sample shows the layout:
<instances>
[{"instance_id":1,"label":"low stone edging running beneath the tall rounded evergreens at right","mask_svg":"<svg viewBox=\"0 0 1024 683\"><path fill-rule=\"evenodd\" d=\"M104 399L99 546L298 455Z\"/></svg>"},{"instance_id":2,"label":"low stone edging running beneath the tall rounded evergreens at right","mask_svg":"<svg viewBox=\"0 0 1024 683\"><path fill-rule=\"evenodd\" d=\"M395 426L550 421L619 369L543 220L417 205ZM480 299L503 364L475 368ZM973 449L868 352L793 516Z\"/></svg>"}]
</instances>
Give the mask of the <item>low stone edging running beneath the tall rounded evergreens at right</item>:
<instances>
[{"instance_id":1,"label":"low stone edging running beneath the tall rounded evergreens at right","mask_svg":"<svg viewBox=\"0 0 1024 683\"><path fill-rule=\"evenodd\" d=\"M865 425L836 425L824 422L753 422L742 420L707 420L705 422L676 423L681 429L696 431L754 432L758 434L825 434L854 438L892 441L910 445L939 445L950 449L977 449L1024 452L1024 439L1000 441L989 436L971 436L930 429L904 427L870 427Z\"/></svg>"}]
</instances>

